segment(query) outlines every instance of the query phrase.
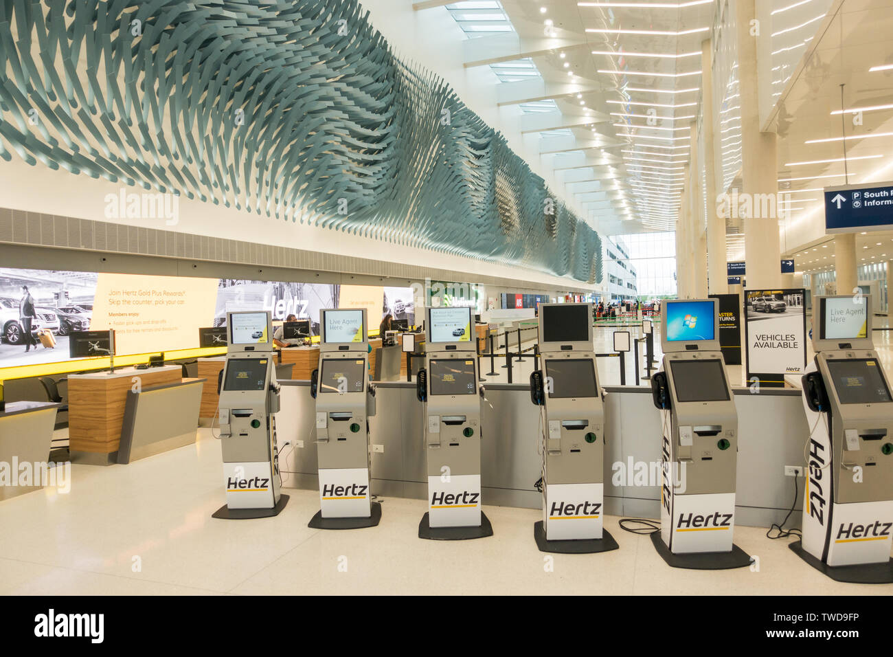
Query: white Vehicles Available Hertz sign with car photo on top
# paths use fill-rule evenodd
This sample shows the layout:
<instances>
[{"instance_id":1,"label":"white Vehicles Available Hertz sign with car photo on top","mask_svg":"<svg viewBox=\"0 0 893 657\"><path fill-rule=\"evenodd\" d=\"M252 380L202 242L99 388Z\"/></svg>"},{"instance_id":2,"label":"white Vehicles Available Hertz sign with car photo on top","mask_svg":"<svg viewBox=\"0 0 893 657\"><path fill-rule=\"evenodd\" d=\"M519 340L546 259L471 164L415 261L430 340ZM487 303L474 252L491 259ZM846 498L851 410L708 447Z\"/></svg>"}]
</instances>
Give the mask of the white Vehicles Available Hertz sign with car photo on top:
<instances>
[{"instance_id":1,"label":"white Vehicles Available Hertz sign with car photo on top","mask_svg":"<svg viewBox=\"0 0 893 657\"><path fill-rule=\"evenodd\" d=\"M744 298L747 383L783 386L806 367L805 290L747 290Z\"/></svg>"}]
</instances>

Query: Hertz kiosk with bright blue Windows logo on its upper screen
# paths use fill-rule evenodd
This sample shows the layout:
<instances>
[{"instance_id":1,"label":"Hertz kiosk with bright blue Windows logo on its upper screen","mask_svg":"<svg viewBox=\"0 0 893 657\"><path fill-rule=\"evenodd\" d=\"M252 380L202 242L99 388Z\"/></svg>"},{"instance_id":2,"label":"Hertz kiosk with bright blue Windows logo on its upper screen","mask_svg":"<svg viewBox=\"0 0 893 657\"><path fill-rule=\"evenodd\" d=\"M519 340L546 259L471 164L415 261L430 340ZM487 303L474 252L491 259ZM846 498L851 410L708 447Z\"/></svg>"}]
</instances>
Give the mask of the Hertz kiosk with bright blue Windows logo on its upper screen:
<instances>
[{"instance_id":1,"label":"Hertz kiosk with bright blue Windows logo on its upper screen","mask_svg":"<svg viewBox=\"0 0 893 657\"><path fill-rule=\"evenodd\" d=\"M663 427L661 530L651 540L673 568L751 562L732 542L738 412L718 333L718 299L663 302L663 364L651 381Z\"/></svg>"}]
</instances>

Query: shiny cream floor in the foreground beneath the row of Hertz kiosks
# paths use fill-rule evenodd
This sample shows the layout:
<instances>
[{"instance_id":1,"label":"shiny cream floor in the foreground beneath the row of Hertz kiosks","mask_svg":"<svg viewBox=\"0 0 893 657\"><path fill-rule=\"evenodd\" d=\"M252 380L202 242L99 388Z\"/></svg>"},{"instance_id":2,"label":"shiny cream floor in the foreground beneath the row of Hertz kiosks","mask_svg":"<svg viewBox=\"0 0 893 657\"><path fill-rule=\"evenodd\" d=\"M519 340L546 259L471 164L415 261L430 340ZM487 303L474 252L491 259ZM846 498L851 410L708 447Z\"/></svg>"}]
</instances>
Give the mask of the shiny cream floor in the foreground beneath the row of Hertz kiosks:
<instances>
[{"instance_id":1,"label":"shiny cream floor in the foreground beneath the row of Hertz kiosks","mask_svg":"<svg viewBox=\"0 0 893 657\"><path fill-rule=\"evenodd\" d=\"M277 518L217 520L220 443L129 466L72 468L71 492L0 502L0 594L889 594L845 585L805 565L787 540L737 527L758 570L671 569L647 536L606 526L621 545L598 555L547 555L533 542L536 510L485 507L494 535L468 542L417 537L424 501L387 498L378 527L307 527L314 491ZM486 500L485 500L486 501Z\"/></svg>"}]
</instances>

